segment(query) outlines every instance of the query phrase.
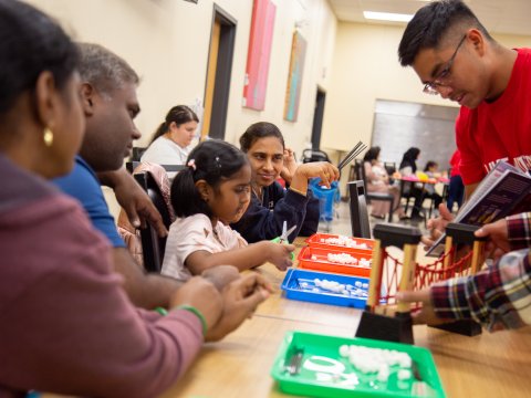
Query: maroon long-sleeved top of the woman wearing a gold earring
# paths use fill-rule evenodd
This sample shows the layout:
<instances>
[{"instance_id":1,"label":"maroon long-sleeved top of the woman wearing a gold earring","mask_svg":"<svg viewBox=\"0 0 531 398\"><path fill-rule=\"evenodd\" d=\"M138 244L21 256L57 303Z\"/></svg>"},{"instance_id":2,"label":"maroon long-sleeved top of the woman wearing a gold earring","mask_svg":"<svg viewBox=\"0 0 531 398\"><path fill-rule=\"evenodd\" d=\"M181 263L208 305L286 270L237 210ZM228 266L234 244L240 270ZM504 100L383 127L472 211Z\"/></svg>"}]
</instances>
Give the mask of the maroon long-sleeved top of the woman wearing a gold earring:
<instances>
[{"instance_id":1,"label":"maroon long-sleeved top of the woman wearing a gold earring","mask_svg":"<svg viewBox=\"0 0 531 398\"><path fill-rule=\"evenodd\" d=\"M199 320L136 310L77 205L55 196L9 217L23 239L12 240L6 264L15 271L0 281L0 385L153 397L183 375L202 344Z\"/></svg>"}]
</instances>

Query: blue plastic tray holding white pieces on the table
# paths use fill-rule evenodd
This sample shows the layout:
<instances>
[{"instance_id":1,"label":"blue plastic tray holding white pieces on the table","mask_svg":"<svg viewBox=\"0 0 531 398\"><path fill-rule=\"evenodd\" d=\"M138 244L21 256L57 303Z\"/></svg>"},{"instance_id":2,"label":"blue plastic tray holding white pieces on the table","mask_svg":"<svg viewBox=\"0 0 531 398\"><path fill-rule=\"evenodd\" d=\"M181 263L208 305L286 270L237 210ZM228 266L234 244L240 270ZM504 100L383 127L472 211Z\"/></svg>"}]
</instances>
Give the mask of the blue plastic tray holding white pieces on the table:
<instances>
[{"instance_id":1,"label":"blue plastic tray holding white pieces on the table","mask_svg":"<svg viewBox=\"0 0 531 398\"><path fill-rule=\"evenodd\" d=\"M344 284L348 295L319 287L314 283L315 279ZM362 287L355 287L360 283ZM368 279L290 269L285 273L281 287L287 298L363 308L368 295Z\"/></svg>"}]
</instances>

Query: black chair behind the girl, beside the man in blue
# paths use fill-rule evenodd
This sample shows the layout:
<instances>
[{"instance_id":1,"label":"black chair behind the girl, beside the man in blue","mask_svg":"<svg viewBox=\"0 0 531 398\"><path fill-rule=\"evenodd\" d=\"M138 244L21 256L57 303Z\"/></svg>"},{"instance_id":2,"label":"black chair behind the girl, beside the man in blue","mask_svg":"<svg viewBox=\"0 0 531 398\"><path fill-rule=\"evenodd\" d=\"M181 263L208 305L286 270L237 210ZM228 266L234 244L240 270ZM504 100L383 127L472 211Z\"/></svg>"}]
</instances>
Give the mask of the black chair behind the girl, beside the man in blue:
<instances>
[{"instance_id":1,"label":"black chair behind the girl, beside the man in blue","mask_svg":"<svg viewBox=\"0 0 531 398\"><path fill-rule=\"evenodd\" d=\"M163 222L169 229L171 219L168 207L164 200L163 193L150 172L137 172L133 176L142 188L147 192L153 203L160 212ZM160 272L166 249L166 238L160 238L152 224L140 229L142 251L144 256L144 266L148 272Z\"/></svg>"}]
</instances>

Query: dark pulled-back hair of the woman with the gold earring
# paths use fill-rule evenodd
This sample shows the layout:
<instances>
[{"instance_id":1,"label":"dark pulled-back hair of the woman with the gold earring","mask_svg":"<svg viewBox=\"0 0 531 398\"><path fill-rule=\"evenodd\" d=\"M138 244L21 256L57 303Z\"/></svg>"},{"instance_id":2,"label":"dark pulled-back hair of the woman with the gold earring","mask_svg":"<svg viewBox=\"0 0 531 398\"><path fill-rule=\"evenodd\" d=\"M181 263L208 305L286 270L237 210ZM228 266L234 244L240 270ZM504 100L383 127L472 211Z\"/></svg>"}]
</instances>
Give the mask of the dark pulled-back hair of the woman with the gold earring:
<instances>
[{"instance_id":1,"label":"dark pulled-back hair of the woman with the gold earring","mask_svg":"<svg viewBox=\"0 0 531 398\"><path fill-rule=\"evenodd\" d=\"M76 45L61 27L37 8L0 0L0 114L23 92L33 92L49 71L61 90L79 66Z\"/></svg>"}]
</instances>

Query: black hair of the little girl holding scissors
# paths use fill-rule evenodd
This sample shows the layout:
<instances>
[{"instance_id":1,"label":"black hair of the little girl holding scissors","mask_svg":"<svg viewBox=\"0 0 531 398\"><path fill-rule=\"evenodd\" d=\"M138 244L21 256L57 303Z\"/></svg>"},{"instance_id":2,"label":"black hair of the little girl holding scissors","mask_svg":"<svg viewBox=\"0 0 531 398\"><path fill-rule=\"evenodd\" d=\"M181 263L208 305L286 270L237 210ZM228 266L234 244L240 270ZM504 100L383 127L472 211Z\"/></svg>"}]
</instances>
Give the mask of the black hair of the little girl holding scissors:
<instances>
[{"instance_id":1,"label":"black hair of the little girl holding scissors","mask_svg":"<svg viewBox=\"0 0 531 398\"><path fill-rule=\"evenodd\" d=\"M188 155L187 168L179 171L171 184L175 214L189 217L202 213L210 218L210 207L202 200L196 182L205 180L217 190L223 180L230 179L248 161L241 150L222 140L209 139L197 145Z\"/></svg>"}]
</instances>

